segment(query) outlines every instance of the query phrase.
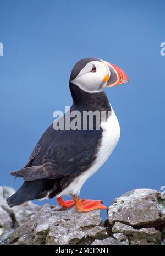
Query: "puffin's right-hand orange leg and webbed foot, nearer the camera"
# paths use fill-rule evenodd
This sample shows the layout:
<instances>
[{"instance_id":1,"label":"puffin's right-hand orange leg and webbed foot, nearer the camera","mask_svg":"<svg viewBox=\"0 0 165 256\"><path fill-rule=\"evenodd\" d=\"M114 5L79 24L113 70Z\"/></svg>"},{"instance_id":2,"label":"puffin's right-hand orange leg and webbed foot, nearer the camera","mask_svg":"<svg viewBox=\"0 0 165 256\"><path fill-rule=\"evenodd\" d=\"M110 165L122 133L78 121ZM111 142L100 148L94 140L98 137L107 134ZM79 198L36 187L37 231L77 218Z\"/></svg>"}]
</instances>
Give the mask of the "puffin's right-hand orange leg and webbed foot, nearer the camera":
<instances>
[{"instance_id":1,"label":"puffin's right-hand orange leg and webbed foot, nearer the camera","mask_svg":"<svg viewBox=\"0 0 165 256\"><path fill-rule=\"evenodd\" d=\"M80 200L79 197L73 197L75 207L79 211L79 213L83 211L92 211L96 209L106 209L108 210L107 206L105 206L101 200Z\"/></svg>"}]
</instances>

